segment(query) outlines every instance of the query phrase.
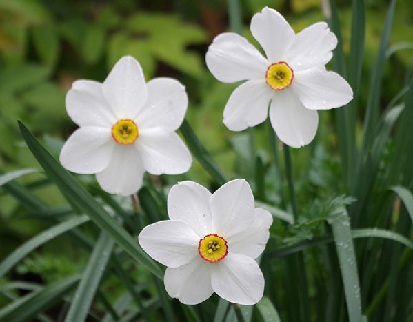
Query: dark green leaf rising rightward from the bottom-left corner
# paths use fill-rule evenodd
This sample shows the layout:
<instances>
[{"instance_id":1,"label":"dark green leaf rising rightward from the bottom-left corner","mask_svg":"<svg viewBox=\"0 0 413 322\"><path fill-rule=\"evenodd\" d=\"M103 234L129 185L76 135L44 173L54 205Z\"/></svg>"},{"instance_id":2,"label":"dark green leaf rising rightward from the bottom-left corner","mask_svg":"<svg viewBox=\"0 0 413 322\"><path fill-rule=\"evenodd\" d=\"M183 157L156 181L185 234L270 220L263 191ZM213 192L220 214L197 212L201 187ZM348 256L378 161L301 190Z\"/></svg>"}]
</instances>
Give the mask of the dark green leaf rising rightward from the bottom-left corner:
<instances>
[{"instance_id":1,"label":"dark green leaf rising rightward from the bottom-left corner","mask_svg":"<svg viewBox=\"0 0 413 322\"><path fill-rule=\"evenodd\" d=\"M17 299L0 310L0 321L21 322L30 320L37 313L47 310L54 303L61 301L61 298L66 296L78 281L78 275L70 276Z\"/></svg>"}]
</instances>

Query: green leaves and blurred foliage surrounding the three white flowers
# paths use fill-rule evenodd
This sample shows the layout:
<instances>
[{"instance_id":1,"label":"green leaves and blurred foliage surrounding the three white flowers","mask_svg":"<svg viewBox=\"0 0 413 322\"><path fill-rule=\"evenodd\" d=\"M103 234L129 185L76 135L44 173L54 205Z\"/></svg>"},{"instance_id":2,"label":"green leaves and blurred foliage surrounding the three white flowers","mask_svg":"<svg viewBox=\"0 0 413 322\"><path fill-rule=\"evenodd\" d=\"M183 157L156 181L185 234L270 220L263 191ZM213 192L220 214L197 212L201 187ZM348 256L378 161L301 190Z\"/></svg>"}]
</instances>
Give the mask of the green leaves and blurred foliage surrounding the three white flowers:
<instances>
[{"instance_id":1,"label":"green leaves and blurred foliage surrounding the three white flowers","mask_svg":"<svg viewBox=\"0 0 413 322\"><path fill-rule=\"evenodd\" d=\"M237 4L0 0L0 321L413 321L413 2ZM328 68L354 89L347 107L319 112L316 139L299 150L283 148L269 123L226 129L236 84L205 66L220 32L254 42L250 19L263 6L296 32L327 20L340 39ZM145 177L138 207L93 176L74 180L30 134L57 158L76 128L64 106L72 82L103 81L125 54L146 79L186 86L181 134L197 159L182 176ZM240 310L215 295L180 305L132 237L166 218L177 181L213 191L238 177L275 218L265 297Z\"/></svg>"}]
</instances>

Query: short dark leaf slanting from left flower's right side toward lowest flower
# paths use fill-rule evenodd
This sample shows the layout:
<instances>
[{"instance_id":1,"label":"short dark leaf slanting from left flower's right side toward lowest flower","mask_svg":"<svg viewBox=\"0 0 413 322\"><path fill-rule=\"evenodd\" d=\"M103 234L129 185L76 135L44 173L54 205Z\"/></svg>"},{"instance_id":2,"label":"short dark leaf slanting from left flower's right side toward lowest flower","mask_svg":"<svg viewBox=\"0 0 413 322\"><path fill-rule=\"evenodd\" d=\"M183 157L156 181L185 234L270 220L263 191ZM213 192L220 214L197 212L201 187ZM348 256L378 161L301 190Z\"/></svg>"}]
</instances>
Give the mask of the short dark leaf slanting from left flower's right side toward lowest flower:
<instances>
[{"instance_id":1,"label":"short dark leaf slanting from left flower's right side toward lowest flower","mask_svg":"<svg viewBox=\"0 0 413 322\"><path fill-rule=\"evenodd\" d=\"M218 168L218 165L216 165L216 162L210 154L205 150L199 139L194 133L194 130L192 130L190 124L188 121L183 120L183 123L181 125L181 133L188 144L192 155L194 155L199 163L203 166L203 168L210 174L212 179L216 181L219 185L223 185L227 180L225 179L224 175L222 174L221 170Z\"/></svg>"}]
</instances>

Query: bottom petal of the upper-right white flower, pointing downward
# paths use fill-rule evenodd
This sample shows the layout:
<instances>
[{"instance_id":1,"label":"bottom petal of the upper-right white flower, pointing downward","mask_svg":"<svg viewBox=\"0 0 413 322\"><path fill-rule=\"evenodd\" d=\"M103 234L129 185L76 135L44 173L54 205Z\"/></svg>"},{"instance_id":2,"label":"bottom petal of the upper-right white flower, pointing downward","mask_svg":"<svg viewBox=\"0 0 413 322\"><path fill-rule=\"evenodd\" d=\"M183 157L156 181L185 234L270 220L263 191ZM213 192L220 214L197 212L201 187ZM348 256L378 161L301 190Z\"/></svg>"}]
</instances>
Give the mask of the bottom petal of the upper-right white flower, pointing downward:
<instances>
[{"instance_id":1,"label":"bottom petal of the upper-right white flower, pointing downward","mask_svg":"<svg viewBox=\"0 0 413 322\"><path fill-rule=\"evenodd\" d=\"M300 148L314 139L319 115L308 110L291 89L274 95L270 105L270 121L276 135L292 148Z\"/></svg>"}]
</instances>

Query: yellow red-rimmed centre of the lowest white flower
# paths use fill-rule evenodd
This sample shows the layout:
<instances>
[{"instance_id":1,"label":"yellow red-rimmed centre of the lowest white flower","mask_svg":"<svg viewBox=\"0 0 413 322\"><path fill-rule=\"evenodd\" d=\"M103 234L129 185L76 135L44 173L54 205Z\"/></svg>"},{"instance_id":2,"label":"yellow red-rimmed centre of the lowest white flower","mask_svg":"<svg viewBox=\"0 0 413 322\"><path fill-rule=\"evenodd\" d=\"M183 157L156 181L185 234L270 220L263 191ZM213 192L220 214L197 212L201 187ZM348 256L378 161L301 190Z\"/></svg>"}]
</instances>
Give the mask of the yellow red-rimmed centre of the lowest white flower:
<instances>
[{"instance_id":1,"label":"yellow red-rimmed centre of the lowest white flower","mask_svg":"<svg viewBox=\"0 0 413 322\"><path fill-rule=\"evenodd\" d=\"M217 234L206 235L199 241L198 252L199 256L205 261L216 263L227 256L227 241Z\"/></svg>"}]
</instances>

